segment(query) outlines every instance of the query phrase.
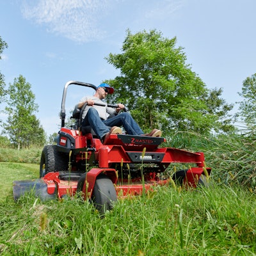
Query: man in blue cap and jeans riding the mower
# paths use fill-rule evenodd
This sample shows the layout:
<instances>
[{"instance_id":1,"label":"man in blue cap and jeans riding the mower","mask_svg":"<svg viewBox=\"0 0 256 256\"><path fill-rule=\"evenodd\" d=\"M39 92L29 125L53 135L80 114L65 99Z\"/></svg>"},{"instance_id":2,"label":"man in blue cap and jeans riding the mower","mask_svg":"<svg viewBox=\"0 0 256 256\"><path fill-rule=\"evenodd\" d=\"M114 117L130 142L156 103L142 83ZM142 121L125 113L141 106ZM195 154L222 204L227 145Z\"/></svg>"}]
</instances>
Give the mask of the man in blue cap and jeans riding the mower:
<instances>
[{"instance_id":1,"label":"man in blue cap and jeans riding the mower","mask_svg":"<svg viewBox=\"0 0 256 256\"><path fill-rule=\"evenodd\" d=\"M103 144L108 140L110 134L122 133L120 126L124 127L127 134L161 137L162 132L158 129L154 129L148 134L143 134L140 126L129 113L123 112L118 114L121 109L124 109L123 104L117 104L118 108L116 109L109 108L108 104L103 102L102 99L105 99L108 94L113 92L113 87L109 86L109 84L102 83L97 87L92 97L83 97L83 99L79 101L77 108L80 109L87 103L82 115L82 126L90 125ZM98 106L96 105L97 103L103 104L104 106ZM113 117L108 119L108 115L113 115ZM110 131L108 127L112 127Z\"/></svg>"}]
</instances>

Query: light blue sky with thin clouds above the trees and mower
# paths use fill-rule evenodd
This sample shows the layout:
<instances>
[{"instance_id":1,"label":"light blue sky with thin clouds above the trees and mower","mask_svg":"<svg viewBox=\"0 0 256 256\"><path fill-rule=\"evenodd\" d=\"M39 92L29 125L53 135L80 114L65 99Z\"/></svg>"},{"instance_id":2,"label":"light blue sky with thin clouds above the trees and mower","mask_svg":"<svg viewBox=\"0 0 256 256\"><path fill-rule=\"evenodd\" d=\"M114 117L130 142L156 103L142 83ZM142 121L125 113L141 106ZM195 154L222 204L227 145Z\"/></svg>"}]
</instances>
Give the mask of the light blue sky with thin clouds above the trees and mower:
<instances>
[{"instance_id":1,"label":"light blue sky with thin clouds above the trees and mower","mask_svg":"<svg viewBox=\"0 0 256 256\"><path fill-rule=\"evenodd\" d=\"M59 130L67 81L114 79L119 71L104 58L121 52L125 31L157 29L177 37L207 88L223 88L222 98L236 103L244 79L256 73L255 10L255 0L1 0L8 49L0 72L7 86L20 74L31 84L49 135Z\"/></svg>"}]
</instances>

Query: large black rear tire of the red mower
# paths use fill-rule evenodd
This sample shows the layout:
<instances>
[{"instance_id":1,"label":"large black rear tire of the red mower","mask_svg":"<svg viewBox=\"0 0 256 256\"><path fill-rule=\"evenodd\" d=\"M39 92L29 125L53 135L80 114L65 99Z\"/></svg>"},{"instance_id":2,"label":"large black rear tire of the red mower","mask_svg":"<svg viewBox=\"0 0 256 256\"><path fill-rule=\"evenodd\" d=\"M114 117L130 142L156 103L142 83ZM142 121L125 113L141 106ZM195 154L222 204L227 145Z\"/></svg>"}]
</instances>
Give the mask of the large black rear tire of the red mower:
<instances>
[{"instance_id":1,"label":"large black rear tire of the red mower","mask_svg":"<svg viewBox=\"0 0 256 256\"><path fill-rule=\"evenodd\" d=\"M68 155L58 151L56 145L47 145L43 148L39 177L49 172L68 171Z\"/></svg>"}]
</instances>

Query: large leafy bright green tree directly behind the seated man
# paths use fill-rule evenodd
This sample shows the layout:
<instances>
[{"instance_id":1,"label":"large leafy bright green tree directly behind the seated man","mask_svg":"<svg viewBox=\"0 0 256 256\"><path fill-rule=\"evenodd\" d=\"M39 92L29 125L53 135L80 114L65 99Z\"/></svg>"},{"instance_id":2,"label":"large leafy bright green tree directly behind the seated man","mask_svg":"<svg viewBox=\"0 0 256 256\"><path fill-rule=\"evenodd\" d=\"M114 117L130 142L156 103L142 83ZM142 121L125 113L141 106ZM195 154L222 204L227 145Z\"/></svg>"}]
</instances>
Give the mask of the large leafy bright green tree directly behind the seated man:
<instances>
[{"instance_id":1,"label":"large leafy bright green tree directly behind the seated man","mask_svg":"<svg viewBox=\"0 0 256 256\"><path fill-rule=\"evenodd\" d=\"M116 90L110 100L124 103L144 130L207 133L227 129L227 111L232 106L220 99L221 90L208 90L191 71L176 42L156 30L134 35L127 30L122 53L106 58L120 69L120 76L107 81ZM218 102L211 100L212 95Z\"/></svg>"}]
</instances>

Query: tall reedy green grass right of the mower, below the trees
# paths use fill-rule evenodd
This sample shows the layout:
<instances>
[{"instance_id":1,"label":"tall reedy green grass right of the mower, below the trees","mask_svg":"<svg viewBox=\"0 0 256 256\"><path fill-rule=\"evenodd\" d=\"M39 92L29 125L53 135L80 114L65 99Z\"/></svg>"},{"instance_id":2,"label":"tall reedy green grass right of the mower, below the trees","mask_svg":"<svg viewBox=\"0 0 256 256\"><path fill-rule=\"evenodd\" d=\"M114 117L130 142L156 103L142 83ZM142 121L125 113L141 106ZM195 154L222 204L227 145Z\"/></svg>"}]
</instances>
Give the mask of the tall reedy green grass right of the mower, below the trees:
<instances>
[{"instance_id":1,"label":"tall reedy green grass right of the mower, below the trees","mask_svg":"<svg viewBox=\"0 0 256 256\"><path fill-rule=\"evenodd\" d=\"M241 184L256 191L256 138L239 134L202 136L178 132L168 138L170 147L204 152L212 177L225 184Z\"/></svg>"}]
</instances>

